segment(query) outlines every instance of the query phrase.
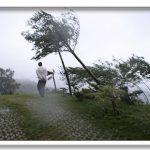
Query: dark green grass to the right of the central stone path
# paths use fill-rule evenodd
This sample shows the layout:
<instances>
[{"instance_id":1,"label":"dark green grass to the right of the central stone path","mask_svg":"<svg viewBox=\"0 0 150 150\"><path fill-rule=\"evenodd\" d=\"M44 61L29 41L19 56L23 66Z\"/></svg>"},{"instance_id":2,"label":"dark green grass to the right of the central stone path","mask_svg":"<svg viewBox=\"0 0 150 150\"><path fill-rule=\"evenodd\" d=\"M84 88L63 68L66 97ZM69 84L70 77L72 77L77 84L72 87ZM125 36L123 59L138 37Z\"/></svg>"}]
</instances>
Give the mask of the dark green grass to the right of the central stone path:
<instances>
[{"instance_id":1,"label":"dark green grass to the right of the central stone path","mask_svg":"<svg viewBox=\"0 0 150 150\"><path fill-rule=\"evenodd\" d=\"M111 102L68 101L70 109L86 117L97 128L109 131L111 140L150 140L150 105L118 103L114 116Z\"/></svg>"}]
</instances>

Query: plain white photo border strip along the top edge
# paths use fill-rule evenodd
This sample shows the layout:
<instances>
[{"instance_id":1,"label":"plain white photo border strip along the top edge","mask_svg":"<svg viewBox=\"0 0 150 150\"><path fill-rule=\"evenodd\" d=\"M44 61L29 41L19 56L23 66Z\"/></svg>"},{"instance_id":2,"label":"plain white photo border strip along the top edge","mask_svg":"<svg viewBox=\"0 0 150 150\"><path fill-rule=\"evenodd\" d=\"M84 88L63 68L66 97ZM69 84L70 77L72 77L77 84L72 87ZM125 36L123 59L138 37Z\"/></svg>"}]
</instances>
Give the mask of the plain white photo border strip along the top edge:
<instances>
[{"instance_id":1,"label":"plain white photo border strip along the top edge","mask_svg":"<svg viewBox=\"0 0 150 150\"><path fill-rule=\"evenodd\" d=\"M150 7L149 0L0 0L0 7Z\"/></svg>"}]
</instances>

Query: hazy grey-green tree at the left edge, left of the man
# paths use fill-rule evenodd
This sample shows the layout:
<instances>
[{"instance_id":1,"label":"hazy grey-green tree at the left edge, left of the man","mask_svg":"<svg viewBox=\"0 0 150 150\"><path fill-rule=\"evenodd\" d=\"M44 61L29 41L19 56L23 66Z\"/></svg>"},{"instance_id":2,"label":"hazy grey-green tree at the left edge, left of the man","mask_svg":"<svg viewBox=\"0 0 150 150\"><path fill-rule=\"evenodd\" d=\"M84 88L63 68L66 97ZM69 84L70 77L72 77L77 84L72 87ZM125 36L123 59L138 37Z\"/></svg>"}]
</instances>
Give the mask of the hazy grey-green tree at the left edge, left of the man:
<instances>
[{"instance_id":1,"label":"hazy grey-green tree at the left edge, left of the man","mask_svg":"<svg viewBox=\"0 0 150 150\"><path fill-rule=\"evenodd\" d=\"M13 76L14 71L0 68L0 94L14 94L19 88Z\"/></svg>"}]
</instances>

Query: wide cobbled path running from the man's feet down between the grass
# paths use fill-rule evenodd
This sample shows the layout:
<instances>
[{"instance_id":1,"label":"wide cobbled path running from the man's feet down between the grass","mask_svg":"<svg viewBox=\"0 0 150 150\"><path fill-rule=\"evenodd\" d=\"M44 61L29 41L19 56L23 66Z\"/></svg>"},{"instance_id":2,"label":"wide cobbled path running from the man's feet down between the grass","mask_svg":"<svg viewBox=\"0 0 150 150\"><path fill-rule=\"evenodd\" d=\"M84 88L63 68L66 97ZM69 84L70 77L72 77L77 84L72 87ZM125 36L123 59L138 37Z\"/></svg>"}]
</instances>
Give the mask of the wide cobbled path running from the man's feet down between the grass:
<instances>
[{"instance_id":1,"label":"wide cobbled path running from the man's feet down between the grass","mask_svg":"<svg viewBox=\"0 0 150 150\"><path fill-rule=\"evenodd\" d=\"M65 100L47 96L28 101L28 107L35 117L56 127L60 135L67 137L66 140L111 139L110 133L102 132L94 127L88 119L83 119L77 113L71 112L65 105Z\"/></svg>"}]
</instances>

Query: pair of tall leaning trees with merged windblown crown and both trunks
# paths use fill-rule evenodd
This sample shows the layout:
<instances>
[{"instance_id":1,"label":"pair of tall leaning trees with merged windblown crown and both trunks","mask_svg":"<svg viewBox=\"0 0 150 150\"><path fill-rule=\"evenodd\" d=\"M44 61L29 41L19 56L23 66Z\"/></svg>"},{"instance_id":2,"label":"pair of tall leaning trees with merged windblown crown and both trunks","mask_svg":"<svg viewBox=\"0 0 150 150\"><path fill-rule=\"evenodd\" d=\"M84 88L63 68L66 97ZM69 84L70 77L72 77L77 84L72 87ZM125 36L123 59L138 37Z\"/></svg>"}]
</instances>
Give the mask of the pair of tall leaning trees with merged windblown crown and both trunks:
<instances>
[{"instance_id":1,"label":"pair of tall leaning trees with merged windblown crown and both trunks","mask_svg":"<svg viewBox=\"0 0 150 150\"><path fill-rule=\"evenodd\" d=\"M66 11L61 14L61 17L55 17L44 11L38 11L28 21L28 25L31 26L32 30L22 32L22 35L27 41L34 44L32 50L35 50L36 53L33 59L39 60L50 53L58 53L65 71L70 94L72 94L70 81L61 55L63 51L73 54L94 81L99 84L96 77L74 52L78 42L80 24L73 11Z\"/></svg>"}]
</instances>

